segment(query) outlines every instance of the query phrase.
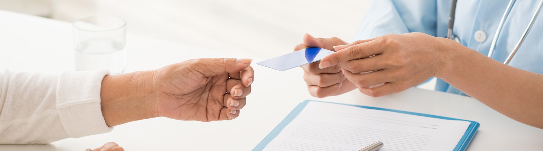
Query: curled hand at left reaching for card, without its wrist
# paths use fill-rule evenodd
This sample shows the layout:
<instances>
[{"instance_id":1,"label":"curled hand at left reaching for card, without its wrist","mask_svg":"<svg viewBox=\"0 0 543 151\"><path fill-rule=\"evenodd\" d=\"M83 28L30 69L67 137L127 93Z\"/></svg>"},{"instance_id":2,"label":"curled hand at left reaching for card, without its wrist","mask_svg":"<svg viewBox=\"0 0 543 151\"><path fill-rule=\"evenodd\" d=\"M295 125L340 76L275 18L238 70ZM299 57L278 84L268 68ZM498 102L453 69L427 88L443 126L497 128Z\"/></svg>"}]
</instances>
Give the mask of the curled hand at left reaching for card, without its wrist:
<instances>
[{"instance_id":1,"label":"curled hand at left reaching for card, without its wrist","mask_svg":"<svg viewBox=\"0 0 543 151\"><path fill-rule=\"evenodd\" d=\"M186 121L220 121L239 116L251 93L251 59L194 59L155 73L159 116Z\"/></svg>"}]
</instances>

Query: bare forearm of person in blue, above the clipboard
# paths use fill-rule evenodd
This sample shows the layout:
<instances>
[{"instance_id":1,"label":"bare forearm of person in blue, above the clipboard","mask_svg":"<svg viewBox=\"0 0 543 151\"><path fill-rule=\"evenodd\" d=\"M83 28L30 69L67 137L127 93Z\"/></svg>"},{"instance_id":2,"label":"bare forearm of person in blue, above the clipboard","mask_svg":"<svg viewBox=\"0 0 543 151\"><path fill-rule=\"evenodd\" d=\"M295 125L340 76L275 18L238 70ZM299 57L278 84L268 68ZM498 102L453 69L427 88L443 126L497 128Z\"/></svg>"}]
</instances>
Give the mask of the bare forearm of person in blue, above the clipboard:
<instances>
[{"instance_id":1,"label":"bare forearm of person in blue, above the clipboard","mask_svg":"<svg viewBox=\"0 0 543 151\"><path fill-rule=\"evenodd\" d=\"M508 66L453 42L437 78L516 121L543 128L543 75Z\"/></svg>"}]
</instances>

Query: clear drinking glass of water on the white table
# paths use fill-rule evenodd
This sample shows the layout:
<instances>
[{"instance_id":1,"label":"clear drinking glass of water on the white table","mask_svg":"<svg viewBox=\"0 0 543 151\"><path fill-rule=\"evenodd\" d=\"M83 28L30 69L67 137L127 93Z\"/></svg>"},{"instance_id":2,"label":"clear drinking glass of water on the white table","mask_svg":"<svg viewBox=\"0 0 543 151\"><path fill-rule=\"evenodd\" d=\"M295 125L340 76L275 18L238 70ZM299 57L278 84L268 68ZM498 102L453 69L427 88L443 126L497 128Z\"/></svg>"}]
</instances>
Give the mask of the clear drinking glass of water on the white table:
<instances>
[{"instance_id":1,"label":"clear drinking glass of water on the white table","mask_svg":"<svg viewBox=\"0 0 543 151\"><path fill-rule=\"evenodd\" d=\"M107 69L121 74L126 66L126 25L122 18L92 15L73 21L75 70Z\"/></svg>"}]
</instances>

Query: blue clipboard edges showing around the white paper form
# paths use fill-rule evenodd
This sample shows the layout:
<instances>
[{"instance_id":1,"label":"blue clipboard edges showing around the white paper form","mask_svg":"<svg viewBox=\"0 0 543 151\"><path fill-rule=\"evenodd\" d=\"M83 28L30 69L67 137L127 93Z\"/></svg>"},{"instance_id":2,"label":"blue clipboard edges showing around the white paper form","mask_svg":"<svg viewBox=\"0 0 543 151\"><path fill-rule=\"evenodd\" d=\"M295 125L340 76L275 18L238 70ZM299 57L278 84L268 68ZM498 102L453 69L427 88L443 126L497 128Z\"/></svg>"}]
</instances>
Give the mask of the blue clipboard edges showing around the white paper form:
<instances>
[{"instance_id":1,"label":"blue clipboard edges showing around the white paper form","mask_svg":"<svg viewBox=\"0 0 543 151\"><path fill-rule=\"evenodd\" d=\"M294 118L296 118L296 116L298 116L298 114L300 114L300 112L305 108L305 106L309 102L323 102L323 101L305 100L304 102L298 104L298 106L296 106L296 108L294 108L294 110L292 110L291 113L289 113L287 115L287 117L285 117L285 119L283 119L283 121L281 121L281 123L279 123L273 130L271 130L271 132L266 137L264 137L264 139L260 143L258 143L255 148L252 149L252 151L263 150L271 140L275 139L275 137L277 135L279 135L279 133L281 133L281 130L283 130L283 128L285 128ZM324 102L324 103L332 103L332 102ZM398 112L398 113L401 113L401 114L409 114L409 115L416 115L416 116L425 116L425 117L432 117L432 118L440 118L440 119L449 119L449 120L459 120L459 121L470 122L470 125L469 125L468 129L466 129L464 135L462 136L462 139L460 139L460 141L458 141L458 143L457 143L456 147L454 147L453 151L463 151L463 150L465 150L466 147L468 147L469 143L471 142L471 140L473 138L473 135L475 135L475 133L479 129L479 125L480 125L478 122L475 122L475 121L468 121L468 120L464 120L464 119L457 119L457 118L450 118L450 117L443 117L443 116L435 116L435 115L429 115L429 114L421 114L421 113L416 113L416 112L408 112L408 111L400 111L400 110L384 109L384 108L375 108L375 107L371 107L371 106L352 105L352 104L343 104L343 103L333 103L333 104L342 104L342 105L355 106L355 107L358 107L358 108L365 108L365 109L383 110L383 111Z\"/></svg>"}]
</instances>

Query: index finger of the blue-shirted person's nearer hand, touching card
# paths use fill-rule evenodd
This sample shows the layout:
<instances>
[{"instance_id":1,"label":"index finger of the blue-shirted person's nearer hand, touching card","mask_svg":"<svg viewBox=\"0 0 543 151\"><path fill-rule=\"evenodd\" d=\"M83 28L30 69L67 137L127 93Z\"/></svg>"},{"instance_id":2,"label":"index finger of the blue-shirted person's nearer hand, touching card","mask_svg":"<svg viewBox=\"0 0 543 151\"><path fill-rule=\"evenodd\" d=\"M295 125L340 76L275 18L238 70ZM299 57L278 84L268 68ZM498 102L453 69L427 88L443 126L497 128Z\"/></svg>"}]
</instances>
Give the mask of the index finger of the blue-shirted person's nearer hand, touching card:
<instances>
[{"instance_id":1,"label":"index finger of the blue-shirted person's nearer hand, touching card","mask_svg":"<svg viewBox=\"0 0 543 151\"><path fill-rule=\"evenodd\" d=\"M363 59L368 56L381 54L385 47L378 45L377 40L371 41L355 41L358 43L350 47L341 49L336 53L329 54L320 60L319 68L326 68L329 66L337 65L340 62L349 60Z\"/></svg>"}]
</instances>

